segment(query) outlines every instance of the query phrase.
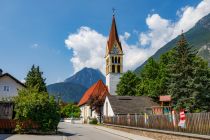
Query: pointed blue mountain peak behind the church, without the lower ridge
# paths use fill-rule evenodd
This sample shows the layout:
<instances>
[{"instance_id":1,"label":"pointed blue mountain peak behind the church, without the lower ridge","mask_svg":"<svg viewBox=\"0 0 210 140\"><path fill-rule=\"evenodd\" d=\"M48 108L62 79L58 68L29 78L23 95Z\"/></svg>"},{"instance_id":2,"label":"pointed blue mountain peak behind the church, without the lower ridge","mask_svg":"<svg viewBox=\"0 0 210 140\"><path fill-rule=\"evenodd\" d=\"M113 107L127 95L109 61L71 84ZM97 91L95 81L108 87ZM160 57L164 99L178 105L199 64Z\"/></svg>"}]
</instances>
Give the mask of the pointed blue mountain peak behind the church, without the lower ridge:
<instances>
[{"instance_id":1,"label":"pointed blue mountain peak behind the church, without the lower ridge","mask_svg":"<svg viewBox=\"0 0 210 140\"><path fill-rule=\"evenodd\" d=\"M80 84L86 88L89 88L99 79L101 79L105 83L105 76L99 70L85 67L72 77L67 78L65 82Z\"/></svg>"}]
</instances>

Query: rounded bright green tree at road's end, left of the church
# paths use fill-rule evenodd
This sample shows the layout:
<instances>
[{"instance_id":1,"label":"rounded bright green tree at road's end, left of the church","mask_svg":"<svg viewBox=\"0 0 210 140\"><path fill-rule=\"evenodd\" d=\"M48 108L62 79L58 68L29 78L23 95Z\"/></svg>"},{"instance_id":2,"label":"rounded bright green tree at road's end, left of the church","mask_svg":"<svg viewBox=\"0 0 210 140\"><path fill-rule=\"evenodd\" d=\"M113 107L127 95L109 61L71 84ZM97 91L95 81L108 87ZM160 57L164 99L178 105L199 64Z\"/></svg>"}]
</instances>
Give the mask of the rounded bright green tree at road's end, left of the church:
<instances>
[{"instance_id":1,"label":"rounded bright green tree at road's end, left of the church","mask_svg":"<svg viewBox=\"0 0 210 140\"><path fill-rule=\"evenodd\" d=\"M80 108L77 105L71 103L61 108L61 116L63 118L79 118L80 113Z\"/></svg>"}]
</instances>

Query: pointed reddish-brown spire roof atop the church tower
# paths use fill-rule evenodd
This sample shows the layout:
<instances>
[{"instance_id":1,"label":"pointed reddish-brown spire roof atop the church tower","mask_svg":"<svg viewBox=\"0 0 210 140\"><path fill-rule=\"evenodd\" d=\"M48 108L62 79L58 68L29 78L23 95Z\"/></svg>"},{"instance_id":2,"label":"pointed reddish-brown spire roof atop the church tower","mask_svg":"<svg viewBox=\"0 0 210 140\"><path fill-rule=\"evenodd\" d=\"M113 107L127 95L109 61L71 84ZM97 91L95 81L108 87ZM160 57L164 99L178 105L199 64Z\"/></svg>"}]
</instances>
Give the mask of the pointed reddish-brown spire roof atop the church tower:
<instances>
[{"instance_id":1,"label":"pointed reddish-brown spire roof atop the church tower","mask_svg":"<svg viewBox=\"0 0 210 140\"><path fill-rule=\"evenodd\" d=\"M122 51L122 46L118 37L118 33L117 33L117 26L116 26L116 22L115 22L115 17L113 15L112 18L112 26L111 26L111 30L109 33L109 40L107 41L107 46L108 46L108 53L110 53L110 51L112 50L112 47L115 43L115 41L119 44L120 49Z\"/></svg>"}]
</instances>

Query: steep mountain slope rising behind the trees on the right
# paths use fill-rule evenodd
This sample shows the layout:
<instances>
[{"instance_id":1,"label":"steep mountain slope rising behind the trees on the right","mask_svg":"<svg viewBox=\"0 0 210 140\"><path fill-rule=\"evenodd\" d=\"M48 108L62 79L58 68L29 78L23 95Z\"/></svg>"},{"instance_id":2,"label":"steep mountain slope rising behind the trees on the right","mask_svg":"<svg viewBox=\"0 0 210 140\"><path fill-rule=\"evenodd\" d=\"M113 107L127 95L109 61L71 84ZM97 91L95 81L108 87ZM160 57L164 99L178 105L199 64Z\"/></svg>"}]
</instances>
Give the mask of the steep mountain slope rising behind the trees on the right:
<instances>
[{"instance_id":1,"label":"steep mountain slope rising behind the trees on the right","mask_svg":"<svg viewBox=\"0 0 210 140\"><path fill-rule=\"evenodd\" d=\"M198 55L207 60L210 66L210 14L200 19L193 28L185 33L185 37L190 45L193 45L193 48L198 50ZM168 42L152 57L158 60L162 54L176 46L178 39L179 36ZM139 66L134 72L139 74L146 63L147 61Z\"/></svg>"}]
</instances>

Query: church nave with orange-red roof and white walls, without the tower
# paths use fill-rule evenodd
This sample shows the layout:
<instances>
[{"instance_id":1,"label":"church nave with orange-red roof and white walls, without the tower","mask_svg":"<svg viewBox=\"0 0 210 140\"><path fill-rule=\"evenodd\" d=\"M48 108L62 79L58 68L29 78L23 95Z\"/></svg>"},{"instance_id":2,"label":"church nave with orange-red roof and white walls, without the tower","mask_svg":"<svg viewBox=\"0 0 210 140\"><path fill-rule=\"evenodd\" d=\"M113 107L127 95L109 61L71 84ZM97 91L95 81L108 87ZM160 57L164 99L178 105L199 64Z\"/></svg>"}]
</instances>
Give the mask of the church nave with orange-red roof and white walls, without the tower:
<instances>
[{"instance_id":1,"label":"church nave with orange-red roof and white walls, without the tower","mask_svg":"<svg viewBox=\"0 0 210 140\"><path fill-rule=\"evenodd\" d=\"M90 118L98 118L99 114L96 111L91 110L89 101L92 96L99 96L101 98L109 95L106 85L102 80L99 80L93 84L82 96L78 106L81 110L81 117L83 123L88 123Z\"/></svg>"}]
</instances>

